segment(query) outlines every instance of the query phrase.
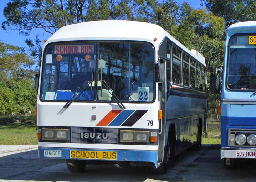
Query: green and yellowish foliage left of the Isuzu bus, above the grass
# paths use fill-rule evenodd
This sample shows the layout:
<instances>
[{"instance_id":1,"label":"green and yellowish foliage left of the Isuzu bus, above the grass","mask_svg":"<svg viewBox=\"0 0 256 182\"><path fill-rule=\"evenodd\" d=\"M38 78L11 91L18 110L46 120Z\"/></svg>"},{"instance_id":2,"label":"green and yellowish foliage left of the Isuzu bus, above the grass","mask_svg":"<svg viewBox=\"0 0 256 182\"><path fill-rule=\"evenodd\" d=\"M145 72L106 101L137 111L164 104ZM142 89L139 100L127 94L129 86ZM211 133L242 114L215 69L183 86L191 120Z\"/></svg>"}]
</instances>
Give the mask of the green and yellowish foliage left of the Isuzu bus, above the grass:
<instances>
[{"instance_id":1,"label":"green and yellowish foliage left of the Isuzu bus, above the grass","mask_svg":"<svg viewBox=\"0 0 256 182\"><path fill-rule=\"evenodd\" d=\"M22 48L0 41L0 115L34 110L35 72L30 69L33 63Z\"/></svg>"}]
</instances>

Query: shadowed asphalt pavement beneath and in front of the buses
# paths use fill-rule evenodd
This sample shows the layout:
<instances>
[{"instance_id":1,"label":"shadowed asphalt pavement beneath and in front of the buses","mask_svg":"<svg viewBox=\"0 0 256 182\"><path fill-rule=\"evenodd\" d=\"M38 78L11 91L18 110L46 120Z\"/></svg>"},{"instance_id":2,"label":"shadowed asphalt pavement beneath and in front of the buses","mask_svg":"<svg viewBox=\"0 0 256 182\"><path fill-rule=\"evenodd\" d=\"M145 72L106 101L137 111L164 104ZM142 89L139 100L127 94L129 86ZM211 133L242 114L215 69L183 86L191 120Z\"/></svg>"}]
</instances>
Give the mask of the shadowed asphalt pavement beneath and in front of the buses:
<instances>
[{"instance_id":1,"label":"shadowed asphalt pavement beneath and in front of the buses","mask_svg":"<svg viewBox=\"0 0 256 182\"><path fill-rule=\"evenodd\" d=\"M0 181L85 181L85 182L255 182L256 160L241 160L226 170L220 162L219 145L203 145L196 152L185 151L167 174L152 173L147 167L117 168L87 165L83 173L71 173L65 160L37 158L36 145L0 145Z\"/></svg>"}]
</instances>

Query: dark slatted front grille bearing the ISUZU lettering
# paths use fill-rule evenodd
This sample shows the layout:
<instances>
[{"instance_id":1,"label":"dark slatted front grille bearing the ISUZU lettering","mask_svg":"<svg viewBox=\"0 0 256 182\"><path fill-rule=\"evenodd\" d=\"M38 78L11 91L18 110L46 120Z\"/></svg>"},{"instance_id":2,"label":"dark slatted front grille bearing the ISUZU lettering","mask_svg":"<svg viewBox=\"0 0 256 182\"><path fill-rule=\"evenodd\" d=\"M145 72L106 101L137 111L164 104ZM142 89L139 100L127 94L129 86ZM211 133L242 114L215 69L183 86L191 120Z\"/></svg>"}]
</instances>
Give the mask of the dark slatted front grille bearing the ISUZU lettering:
<instances>
[{"instance_id":1,"label":"dark slatted front grille bearing the ISUZU lettering","mask_svg":"<svg viewBox=\"0 0 256 182\"><path fill-rule=\"evenodd\" d=\"M107 139L81 139L81 132L92 133L107 133ZM71 143L86 143L86 144L118 144L119 132L118 128L86 128L86 127L71 127Z\"/></svg>"}]
</instances>

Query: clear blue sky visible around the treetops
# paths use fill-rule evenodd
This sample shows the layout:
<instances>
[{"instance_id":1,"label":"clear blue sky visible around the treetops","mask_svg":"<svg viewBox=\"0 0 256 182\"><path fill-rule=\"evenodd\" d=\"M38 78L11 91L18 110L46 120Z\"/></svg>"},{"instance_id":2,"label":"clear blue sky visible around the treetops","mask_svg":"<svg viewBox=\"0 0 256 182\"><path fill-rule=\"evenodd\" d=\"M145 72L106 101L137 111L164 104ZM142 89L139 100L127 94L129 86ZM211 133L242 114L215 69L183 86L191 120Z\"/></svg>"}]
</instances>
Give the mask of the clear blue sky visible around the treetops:
<instances>
[{"instance_id":1,"label":"clear blue sky visible around the treetops","mask_svg":"<svg viewBox=\"0 0 256 182\"><path fill-rule=\"evenodd\" d=\"M163 1L163 0L160 0L160 2L161 1ZM200 6L200 3L201 3L200 0L176 0L176 2L178 2L180 4L182 4L185 1L188 2L190 4L190 6L192 6L194 9L202 8L202 6ZM3 15L3 10L8 2L10 2L10 0L0 0L0 25L2 24L3 21L6 20ZM19 32L17 30L4 31L0 26L0 40L1 41L15 45L15 46L24 47L25 50L27 50L27 46L25 43L26 38L30 38L30 39L34 40L37 34L39 35L39 39L42 41L45 39L48 39L51 36L51 34L49 34L49 33L46 33L46 32L44 33L43 29L41 29L41 28L32 30L30 32L29 36L23 36L23 35L19 35Z\"/></svg>"}]
</instances>

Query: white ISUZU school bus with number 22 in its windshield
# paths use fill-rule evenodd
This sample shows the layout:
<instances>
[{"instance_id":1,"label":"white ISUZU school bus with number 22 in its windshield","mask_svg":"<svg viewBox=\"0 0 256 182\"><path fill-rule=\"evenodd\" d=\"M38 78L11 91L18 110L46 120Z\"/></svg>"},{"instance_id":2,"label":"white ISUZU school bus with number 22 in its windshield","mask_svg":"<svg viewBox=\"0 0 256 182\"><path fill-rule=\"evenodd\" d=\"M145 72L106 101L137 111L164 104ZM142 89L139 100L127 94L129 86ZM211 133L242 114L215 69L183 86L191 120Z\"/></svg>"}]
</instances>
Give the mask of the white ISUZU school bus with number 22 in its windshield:
<instances>
[{"instance_id":1,"label":"white ISUZU school bus with number 22 in its windshield","mask_svg":"<svg viewBox=\"0 0 256 182\"><path fill-rule=\"evenodd\" d=\"M37 92L39 158L152 166L201 146L206 65L158 25L93 21L43 46Z\"/></svg>"}]
</instances>

